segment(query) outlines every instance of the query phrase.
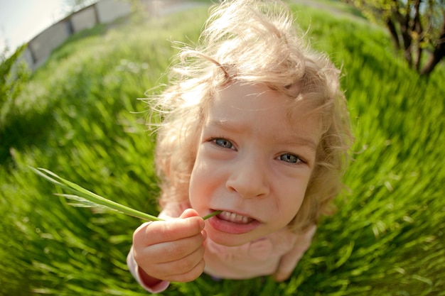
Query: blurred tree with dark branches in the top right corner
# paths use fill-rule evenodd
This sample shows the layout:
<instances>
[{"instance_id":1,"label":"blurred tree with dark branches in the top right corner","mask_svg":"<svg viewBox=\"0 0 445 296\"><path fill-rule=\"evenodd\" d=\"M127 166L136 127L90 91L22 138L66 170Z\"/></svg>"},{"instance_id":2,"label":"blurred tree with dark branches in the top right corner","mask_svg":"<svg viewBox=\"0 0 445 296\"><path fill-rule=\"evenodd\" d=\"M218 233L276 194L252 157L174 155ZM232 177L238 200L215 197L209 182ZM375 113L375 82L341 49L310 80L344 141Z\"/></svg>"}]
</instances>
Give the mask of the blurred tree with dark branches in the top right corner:
<instances>
[{"instance_id":1,"label":"blurred tree with dark branches in the top right corner","mask_svg":"<svg viewBox=\"0 0 445 296\"><path fill-rule=\"evenodd\" d=\"M384 23L410 67L429 75L445 56L445 0L343 0Z\"/></svg>"}]
</instances>

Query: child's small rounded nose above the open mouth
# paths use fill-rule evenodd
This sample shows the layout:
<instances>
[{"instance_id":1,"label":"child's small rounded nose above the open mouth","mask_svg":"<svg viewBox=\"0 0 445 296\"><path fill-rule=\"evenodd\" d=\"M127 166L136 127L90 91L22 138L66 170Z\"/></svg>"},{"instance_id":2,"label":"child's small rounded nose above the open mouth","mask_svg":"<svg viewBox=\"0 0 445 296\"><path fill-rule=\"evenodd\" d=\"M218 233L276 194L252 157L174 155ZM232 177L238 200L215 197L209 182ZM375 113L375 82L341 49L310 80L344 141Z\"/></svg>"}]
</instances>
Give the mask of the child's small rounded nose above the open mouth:
<instances>
[{"instance_id":1,"label":"child's small rounded nose above the open mouth","mask_svg":"<svg viewBox=\"0 0 445 296\"><path fill-rule=\"evenodd\" d=\"M233 161L235 165L226 182L228 190L245 198L269 194L269 170L264 160L255 155L242 155Z\"/></svg>"}]
</instances>

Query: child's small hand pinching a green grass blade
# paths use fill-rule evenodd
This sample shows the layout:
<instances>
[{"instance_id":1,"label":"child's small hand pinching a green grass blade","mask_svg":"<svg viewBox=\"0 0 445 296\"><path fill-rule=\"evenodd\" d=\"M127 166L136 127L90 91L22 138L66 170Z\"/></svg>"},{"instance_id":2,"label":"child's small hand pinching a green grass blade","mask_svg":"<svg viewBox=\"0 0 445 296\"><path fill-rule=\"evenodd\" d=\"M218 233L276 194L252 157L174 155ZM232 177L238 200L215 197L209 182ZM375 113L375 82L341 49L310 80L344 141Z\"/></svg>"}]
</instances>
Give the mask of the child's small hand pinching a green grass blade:
<instances>
[{"instance_id":1,"label":"child's small hand pinching a green grass blade","mask_svg":"<svg viewBox=\"0 0 445 296\"><path fill-rule=\"evenodd\" d=\"M161 280L189 282L204 270L204 220L194 209L179 219L142 224L133 234L133 255L141 279L149 286Z\"/></svg>"}]
</instances>

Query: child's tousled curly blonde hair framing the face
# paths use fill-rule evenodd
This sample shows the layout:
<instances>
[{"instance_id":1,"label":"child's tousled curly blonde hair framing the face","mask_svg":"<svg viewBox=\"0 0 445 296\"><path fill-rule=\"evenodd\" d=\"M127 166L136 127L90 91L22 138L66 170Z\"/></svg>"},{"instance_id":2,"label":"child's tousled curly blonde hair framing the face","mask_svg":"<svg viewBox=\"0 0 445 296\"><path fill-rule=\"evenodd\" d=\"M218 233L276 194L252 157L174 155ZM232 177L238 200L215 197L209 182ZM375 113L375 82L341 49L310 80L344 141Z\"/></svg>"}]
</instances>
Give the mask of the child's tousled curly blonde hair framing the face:
<instances>
[{"instance_id":1,"label":"child's tousled curly blonde hair framing the face","mask_svg":"<svg viewBox=\"0 0 445 296\"><path fill-rule=\"evenodd\" d=\"M321 114L323 136L301 209L289 226L305 231L333 212L343 187L352 136L340 71L309 48L288 6L276 0L223 1L210 13L195 48L184 47L171 69L170 86L148 99L161 114L156 167L161 207L188 201L190 180L208 103L234 82L264 84ZM154 123L152 123L154 124ZM156 124L154 124L156 125Z\"/></svg>"}]
</instances>

